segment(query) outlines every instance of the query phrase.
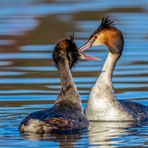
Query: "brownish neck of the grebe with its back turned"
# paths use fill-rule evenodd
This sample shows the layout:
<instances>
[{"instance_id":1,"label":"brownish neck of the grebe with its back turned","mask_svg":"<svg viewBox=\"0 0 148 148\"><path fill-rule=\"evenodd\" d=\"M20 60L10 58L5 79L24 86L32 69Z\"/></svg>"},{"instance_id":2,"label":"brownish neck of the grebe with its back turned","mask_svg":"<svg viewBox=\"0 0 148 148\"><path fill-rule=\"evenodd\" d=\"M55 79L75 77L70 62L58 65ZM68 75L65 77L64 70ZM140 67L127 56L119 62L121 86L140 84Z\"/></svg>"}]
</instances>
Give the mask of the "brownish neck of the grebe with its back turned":
<instances>
[{"instance_id":1,"label":"brownish neck of the grebe with its back turned","mask_svg":"<svg viewBox=\"0 0 148 148\"><path fill-rule=\"evenodd\" d=\"M72 78L68 62L59 64L61 90L56 103L59 101L72 101L81 106L80 96Z\"/></svg>"}]
</instances>

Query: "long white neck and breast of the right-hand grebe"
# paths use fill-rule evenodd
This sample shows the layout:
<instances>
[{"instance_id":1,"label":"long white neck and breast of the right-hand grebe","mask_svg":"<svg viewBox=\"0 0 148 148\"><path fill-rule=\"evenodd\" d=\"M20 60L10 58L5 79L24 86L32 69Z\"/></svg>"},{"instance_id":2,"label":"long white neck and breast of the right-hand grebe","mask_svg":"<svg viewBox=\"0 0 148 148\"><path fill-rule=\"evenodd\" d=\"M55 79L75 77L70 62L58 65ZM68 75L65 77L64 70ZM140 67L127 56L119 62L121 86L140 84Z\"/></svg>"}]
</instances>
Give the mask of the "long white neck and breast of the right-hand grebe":
<instances>
[{"instance_id":1,"label":"long white neck and breast of the right-hand grebe","mask_svg":"<svg viewBox=\"0 0 148 148\"><path fill-rule=\"evenodd\" d=\"M119 54L112 54L109 52L107 59L104 63L102 72L92 88L86 108L86 114L91 120L98 119L98 116L104 120L108 118L108 112L116 114L115 106L119 103L114 94L112 85L112 75L114 67L119 59Z\"/></svg>"}]
</instances>

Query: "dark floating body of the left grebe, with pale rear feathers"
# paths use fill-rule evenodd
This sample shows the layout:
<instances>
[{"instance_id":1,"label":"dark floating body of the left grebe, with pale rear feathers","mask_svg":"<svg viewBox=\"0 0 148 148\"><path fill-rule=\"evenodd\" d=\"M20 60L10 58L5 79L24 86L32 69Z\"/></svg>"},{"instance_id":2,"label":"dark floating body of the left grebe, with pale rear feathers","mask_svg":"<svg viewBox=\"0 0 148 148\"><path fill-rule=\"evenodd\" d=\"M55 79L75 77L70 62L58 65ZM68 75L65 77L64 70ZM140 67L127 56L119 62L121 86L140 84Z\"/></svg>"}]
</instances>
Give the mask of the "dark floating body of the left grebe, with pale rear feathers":
<instances>
[{"instance_id":1,"label":"dark floating body of the left grebe, with pale rear feathers","mask_svg":"<svg viewBox=\"0 0 148 148\"><path fill-rule=\"evenodd\" d=\"M21 132L73 133L85 130L88 121L81 107L71 101L61 101L52 108L29 114L20 124Z\"/></svg>"}]
</instances>

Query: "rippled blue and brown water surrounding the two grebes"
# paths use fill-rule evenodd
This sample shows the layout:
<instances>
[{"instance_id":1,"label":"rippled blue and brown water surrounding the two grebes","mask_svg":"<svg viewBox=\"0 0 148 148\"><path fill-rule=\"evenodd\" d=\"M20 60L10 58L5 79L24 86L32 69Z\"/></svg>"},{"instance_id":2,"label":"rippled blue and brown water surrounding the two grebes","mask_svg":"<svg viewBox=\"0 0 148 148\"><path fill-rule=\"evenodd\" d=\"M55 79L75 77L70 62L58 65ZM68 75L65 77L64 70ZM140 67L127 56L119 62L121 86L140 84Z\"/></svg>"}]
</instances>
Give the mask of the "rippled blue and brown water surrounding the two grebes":
<instances>
[{"instance_id":1,"label":"rippled blue and brown water surrounding the two grebes","mask_svg":"<svg viewBox=\"0 0 148 148\"><path fill-rule=\"evenodd\" d=\"M75 32L80 47L104 16L110 16L125 37L113 78L117 97L148 105L147 0L0 1L0 147L148 147L148 124L92 122L81 135L19 134L25 115L56 100L60 81L51 60L56 42ZM103 60L80 62L73 70L83 107L107 49L88 52Z\"/></svg>"}]
</instances>

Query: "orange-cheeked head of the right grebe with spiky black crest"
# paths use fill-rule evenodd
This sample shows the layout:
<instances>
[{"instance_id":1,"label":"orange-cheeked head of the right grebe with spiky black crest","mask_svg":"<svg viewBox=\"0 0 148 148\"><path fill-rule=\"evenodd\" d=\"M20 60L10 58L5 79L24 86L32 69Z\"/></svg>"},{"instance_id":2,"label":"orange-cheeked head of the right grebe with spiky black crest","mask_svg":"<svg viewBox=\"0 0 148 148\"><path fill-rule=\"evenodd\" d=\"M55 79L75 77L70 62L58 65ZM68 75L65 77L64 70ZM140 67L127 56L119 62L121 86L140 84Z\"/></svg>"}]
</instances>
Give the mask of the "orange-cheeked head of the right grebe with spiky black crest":
<instances>
[{"instance_id":1,"label":"orange-cheeked head of the right grebe with spiky black crest","mask_svg":"<svg viewBox=\"0 0 148 148\"><path fill-rule=\"evenodd\" d=\"M111 53L121 54L124 45L124 38L114 22L109 17L103 18L100 26L89 37L87 43L80 48L85 51L92 46L106 45Z\"/></svg>"}]
</instances>

